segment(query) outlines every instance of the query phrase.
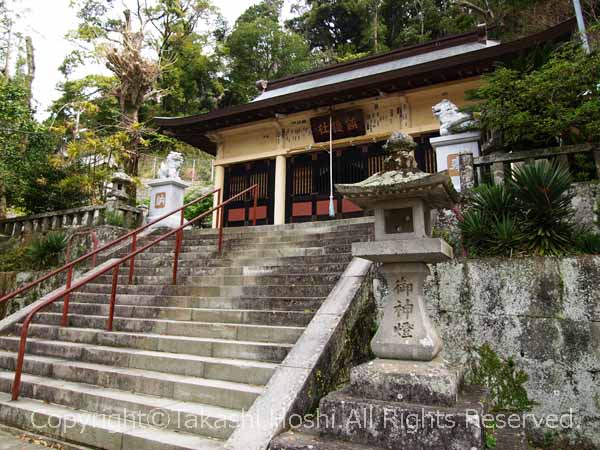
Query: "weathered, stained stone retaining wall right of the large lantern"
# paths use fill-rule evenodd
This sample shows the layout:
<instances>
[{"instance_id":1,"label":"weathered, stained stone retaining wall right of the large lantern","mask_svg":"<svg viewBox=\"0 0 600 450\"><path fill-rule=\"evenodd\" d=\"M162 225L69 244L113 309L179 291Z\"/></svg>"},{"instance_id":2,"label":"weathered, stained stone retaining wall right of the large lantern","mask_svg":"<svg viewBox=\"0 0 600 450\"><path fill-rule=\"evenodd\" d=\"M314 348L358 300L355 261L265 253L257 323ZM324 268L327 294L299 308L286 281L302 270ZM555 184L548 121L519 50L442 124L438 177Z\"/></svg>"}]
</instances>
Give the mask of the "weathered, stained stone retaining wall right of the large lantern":
<instances>
[{"instance_id":1,"label":"weathered, stained stone retaining wall right of the large lantern","mask_svg":"<svg viewBox=\"0 0 600 450\"><path fill-rule=\"evenodd\" d=\"M572 409L571 443L600 448L599 281L598 256L468 259L432 266L426 293L449 359L486 342L513 357L532 412Z\"/></svg>"}]
</instances>

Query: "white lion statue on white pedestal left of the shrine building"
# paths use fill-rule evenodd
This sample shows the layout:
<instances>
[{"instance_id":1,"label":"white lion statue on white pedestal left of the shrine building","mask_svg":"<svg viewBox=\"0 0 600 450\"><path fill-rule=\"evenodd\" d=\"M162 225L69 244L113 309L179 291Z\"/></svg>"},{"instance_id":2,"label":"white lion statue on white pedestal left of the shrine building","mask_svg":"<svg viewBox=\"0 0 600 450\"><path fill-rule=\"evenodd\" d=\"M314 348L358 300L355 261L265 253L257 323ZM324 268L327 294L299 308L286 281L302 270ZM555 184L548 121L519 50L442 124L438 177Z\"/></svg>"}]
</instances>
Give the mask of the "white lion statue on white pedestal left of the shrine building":
<instances>
[{"instance_id":1,"label":"white lion statue on white pedestal left of the shrine building","mask_svg":"<svg viewBox=\"0 0 600 450\"><path fill-rule=\"evenodd\" d=\"M189 187L179 176L183 156L170 152L160 165L158 179L150 181L150 210L147 221L151 222L183 206L185 190ZM153 225L153 227L177 228L181 225L180 214L173 214Z\"/></svg>"}]
</instances>

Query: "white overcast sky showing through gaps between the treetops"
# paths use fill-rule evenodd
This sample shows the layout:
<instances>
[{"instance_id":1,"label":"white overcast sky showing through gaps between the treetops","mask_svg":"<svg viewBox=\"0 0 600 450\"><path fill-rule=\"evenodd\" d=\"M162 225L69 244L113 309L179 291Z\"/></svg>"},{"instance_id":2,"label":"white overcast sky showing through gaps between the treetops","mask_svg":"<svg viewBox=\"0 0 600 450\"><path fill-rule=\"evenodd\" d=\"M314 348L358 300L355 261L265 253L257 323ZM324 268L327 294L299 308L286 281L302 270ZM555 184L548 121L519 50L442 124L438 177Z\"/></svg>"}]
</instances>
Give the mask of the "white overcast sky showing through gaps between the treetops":
<instances>
[{"instance_id":1,"label":"white overcast sky showing through gaps between the treetops","mask_svg":"<svg viewBox=\"0 0 600 450\"><path fill-rule=\"evenodd\" d=\"M221 0L219 6L229 24L248 6L259 0ZM31 35L35 48L36 77L33 84L38 107L38 117L47 116L46 109L59 97L56 84L62 75L58 71L65 55L73 48L64 38L77 23L75 11L69 8L69 0L20 0L23 9L20 28ZM89 67L87 72L95 72L98 67ZM83 75L81 74L78 75Z\"/></svg>"}]
</instances>

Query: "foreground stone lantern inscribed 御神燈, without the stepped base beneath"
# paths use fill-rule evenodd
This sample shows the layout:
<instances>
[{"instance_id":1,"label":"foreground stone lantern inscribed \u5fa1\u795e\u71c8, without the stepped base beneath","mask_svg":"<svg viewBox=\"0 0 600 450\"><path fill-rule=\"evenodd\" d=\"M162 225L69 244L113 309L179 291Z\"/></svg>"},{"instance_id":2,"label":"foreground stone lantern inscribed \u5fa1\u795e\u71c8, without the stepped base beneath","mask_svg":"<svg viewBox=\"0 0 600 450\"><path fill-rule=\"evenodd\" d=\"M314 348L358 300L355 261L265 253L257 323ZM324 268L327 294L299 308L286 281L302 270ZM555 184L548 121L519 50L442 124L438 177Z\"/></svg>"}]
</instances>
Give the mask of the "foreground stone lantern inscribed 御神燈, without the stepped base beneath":
<instances>
[{"instance_id":1,"label":"foreground stone lantern inscribed \u5fa1\u795e\u71c8, without the stepped base beneath","mask_svg":"<svg viewBox=\"0 0 600 450\"><path fill-rule=\"evenodd\" d=\"M386 144L385 172L338 191L375 213L375 241L355 243L354 256L381 262L388 286L383 321L371 348L380 358L431 361L442 341L423 303L427 263L452 258L452 248L431 237L431 210L450 208L457 193L446 172L435 175L417 168L416 144L402 133Z\"/></svg>"}]
</instances>

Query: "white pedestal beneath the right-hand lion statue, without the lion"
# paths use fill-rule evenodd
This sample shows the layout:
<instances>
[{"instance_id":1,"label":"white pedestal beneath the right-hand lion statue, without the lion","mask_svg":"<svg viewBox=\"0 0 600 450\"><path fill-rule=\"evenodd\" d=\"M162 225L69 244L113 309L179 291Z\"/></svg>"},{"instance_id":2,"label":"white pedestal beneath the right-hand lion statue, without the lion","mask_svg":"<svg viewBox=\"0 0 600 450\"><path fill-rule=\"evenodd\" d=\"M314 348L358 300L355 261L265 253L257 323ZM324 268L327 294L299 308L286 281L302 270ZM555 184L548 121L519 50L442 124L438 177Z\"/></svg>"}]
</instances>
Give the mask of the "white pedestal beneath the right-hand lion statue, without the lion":
<instances>
[{"instance_id":1,"label":"white pedestal beneath the right-hand lion statue, without the lion","mask_svg":"<svg viewBox=\"0 0 600 450\"><path fill-rule=\"evenodd\" d=\"M429 143L435 149L438 172L448 170L454 188L460 192L459 158L461 153L472 153L474 158L480 155L479 131L450 134L431 138Z\"/></svg>"}]
</instances>

